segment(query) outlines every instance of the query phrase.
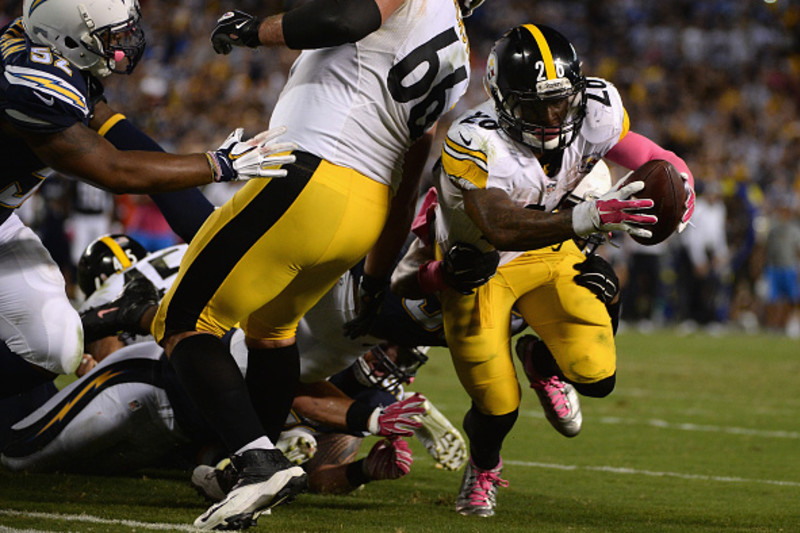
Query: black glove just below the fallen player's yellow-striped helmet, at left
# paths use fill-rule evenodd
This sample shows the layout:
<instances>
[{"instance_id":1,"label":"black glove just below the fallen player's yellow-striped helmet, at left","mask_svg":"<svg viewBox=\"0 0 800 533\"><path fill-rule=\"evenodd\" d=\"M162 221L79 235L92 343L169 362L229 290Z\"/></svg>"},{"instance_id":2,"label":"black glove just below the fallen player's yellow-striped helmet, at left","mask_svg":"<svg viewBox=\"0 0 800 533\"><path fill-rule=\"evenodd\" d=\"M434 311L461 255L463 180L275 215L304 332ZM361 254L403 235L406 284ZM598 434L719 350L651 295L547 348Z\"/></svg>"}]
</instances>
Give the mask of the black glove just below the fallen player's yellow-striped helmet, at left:
<instances>
[{"instance_id":1,"label":"black glove just below the fallen player's yellow-striped helmet, at left","mask_svg":"<svg viewBox=\"0 0 800 533\"><path fill-rule=\"evenodd\" d=\"M150 333L142 327L141 321L148 309L158 305L158 298L158 290L149 279L132 279L125 284L119 298L81 313L83 342L89 344L121 332Z\"/></svg>"}]
</instances>

